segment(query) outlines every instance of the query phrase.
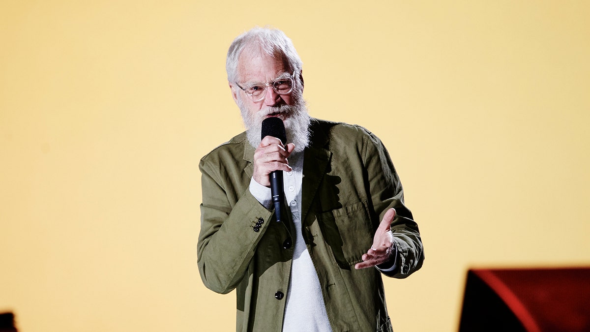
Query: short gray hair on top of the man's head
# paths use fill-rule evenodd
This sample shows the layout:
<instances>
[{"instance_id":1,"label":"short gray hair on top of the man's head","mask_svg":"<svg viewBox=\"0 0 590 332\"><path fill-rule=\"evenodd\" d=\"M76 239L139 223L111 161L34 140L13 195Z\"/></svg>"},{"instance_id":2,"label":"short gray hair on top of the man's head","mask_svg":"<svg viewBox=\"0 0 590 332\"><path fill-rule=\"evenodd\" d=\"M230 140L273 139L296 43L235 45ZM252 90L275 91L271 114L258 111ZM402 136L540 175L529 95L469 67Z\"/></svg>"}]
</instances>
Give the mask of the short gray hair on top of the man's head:
<instances>
[{"instance_id":1,"label":"short gray hair on top of the man's head","mask_svg":"<svg viewBox=\"0 0 590 332\"><path fill-rule=\"evenodd\" d=\"M296 82L301 83L299 73L303 63L301 63L301 58L297 54L293 42L283 31L268 27L255 27L239 35L231 43L225 61L225 70L229 82L236 82L238 79L238 58L240 58L244 48L251 46L260 47L272 57L284 57L290 67L289 69L296 72Z\"/></svg>"}]
</instances>

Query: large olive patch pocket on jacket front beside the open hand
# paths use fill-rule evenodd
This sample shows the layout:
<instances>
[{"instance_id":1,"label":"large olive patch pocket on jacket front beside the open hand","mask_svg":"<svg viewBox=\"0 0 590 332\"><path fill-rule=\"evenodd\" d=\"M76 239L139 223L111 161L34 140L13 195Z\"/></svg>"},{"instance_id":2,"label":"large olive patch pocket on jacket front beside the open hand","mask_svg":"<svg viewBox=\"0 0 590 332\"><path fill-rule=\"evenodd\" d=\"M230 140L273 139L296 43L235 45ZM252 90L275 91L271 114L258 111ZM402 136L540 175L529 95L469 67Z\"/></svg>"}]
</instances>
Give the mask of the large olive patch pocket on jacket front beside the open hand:
<instances>
[{"instance_id":1,"label":"large olive patch pocket on jacket front beside the open hand","mask_svg":"<svg viewBox=\"0 0 590 332\"><path fill-rule=\"evenodd\" d=\"M362 262L373 244L373 227L366 201L360 201L319 215L324 241L332 253L332 263L349 269Z\"/></svg>"}]
</instances>

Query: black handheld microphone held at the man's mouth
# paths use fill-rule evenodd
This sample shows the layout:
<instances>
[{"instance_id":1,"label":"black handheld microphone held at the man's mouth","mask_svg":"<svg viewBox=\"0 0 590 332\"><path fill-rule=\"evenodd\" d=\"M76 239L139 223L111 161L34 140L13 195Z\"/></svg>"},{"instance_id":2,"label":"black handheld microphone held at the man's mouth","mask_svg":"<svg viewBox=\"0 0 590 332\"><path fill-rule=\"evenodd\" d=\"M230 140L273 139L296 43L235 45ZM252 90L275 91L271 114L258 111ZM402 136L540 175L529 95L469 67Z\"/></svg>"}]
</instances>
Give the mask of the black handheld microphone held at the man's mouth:
<instances>
[{"instance_id":1,"label":"black handheld microphone held at the man's mouth","mask_svg":"<svg viewBox=\"0 0 590 332\"><path fill-rule=\"evenodd\" d=\"M262 130L260 139L266 136L273 136L281 140L285 145L287 143L287 133L285 132L285 125L283 120L275 118L266 118L262 122ZM277 217L277 222L281 222L281 201L283 201L283 171L272 171L268 174L270 180L270 194L273 198L274 216Z\"/></svg>"}]
</instances>

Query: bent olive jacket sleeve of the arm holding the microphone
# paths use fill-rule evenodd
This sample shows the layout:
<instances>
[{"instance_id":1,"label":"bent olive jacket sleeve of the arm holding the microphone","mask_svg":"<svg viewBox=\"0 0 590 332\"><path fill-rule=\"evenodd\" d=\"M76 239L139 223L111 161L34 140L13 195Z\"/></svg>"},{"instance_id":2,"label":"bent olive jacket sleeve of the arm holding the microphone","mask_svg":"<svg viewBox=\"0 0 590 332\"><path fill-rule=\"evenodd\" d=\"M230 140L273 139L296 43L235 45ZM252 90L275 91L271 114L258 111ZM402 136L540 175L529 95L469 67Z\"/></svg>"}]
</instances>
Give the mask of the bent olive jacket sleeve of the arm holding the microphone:
<instances>
[{"instance_id":1,"label":"bent olive jacket sleeve of the arm holding the microphone","mask_svg":"<svg viewBox=\"0 0 590 332\"><path fill-rule=\"evenodd\" d=\"M205 158L199 164L203 203L197 264L205 286L226 294L246 273L272 211L258 203L248 185L236 185L232 177L237 175L220 165Z\"/></svg>"}]
</instances>

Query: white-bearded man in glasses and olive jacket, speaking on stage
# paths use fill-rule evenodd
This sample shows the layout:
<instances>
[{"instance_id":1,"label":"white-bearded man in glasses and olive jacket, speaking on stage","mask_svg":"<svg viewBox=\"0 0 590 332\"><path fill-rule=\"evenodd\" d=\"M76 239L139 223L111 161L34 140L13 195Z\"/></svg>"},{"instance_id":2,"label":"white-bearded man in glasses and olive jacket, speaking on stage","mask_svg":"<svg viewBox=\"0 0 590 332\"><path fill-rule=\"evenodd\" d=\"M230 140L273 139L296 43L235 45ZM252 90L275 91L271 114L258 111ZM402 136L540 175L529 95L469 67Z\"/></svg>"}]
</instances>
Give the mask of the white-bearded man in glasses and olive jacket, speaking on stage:
<instances>
[{"instance_id":1,"label":"white-bearded man in glasses and olive jacket, speaking on stage","mask_svg":"<svg viewBox=\"0 0 590 332\"><path fill-rule=\"evenodd\" d=\"M360 126L310 118L301 60L281 31L237 37L227 74L247 131L199 164L204 284L237 290L237 331L392 331L381 274L405 278L424 254L385 147ZM261 139L270 116L286 145ZM268 188L276 170L282 222Z\"/></svg>"}]
</instances>

